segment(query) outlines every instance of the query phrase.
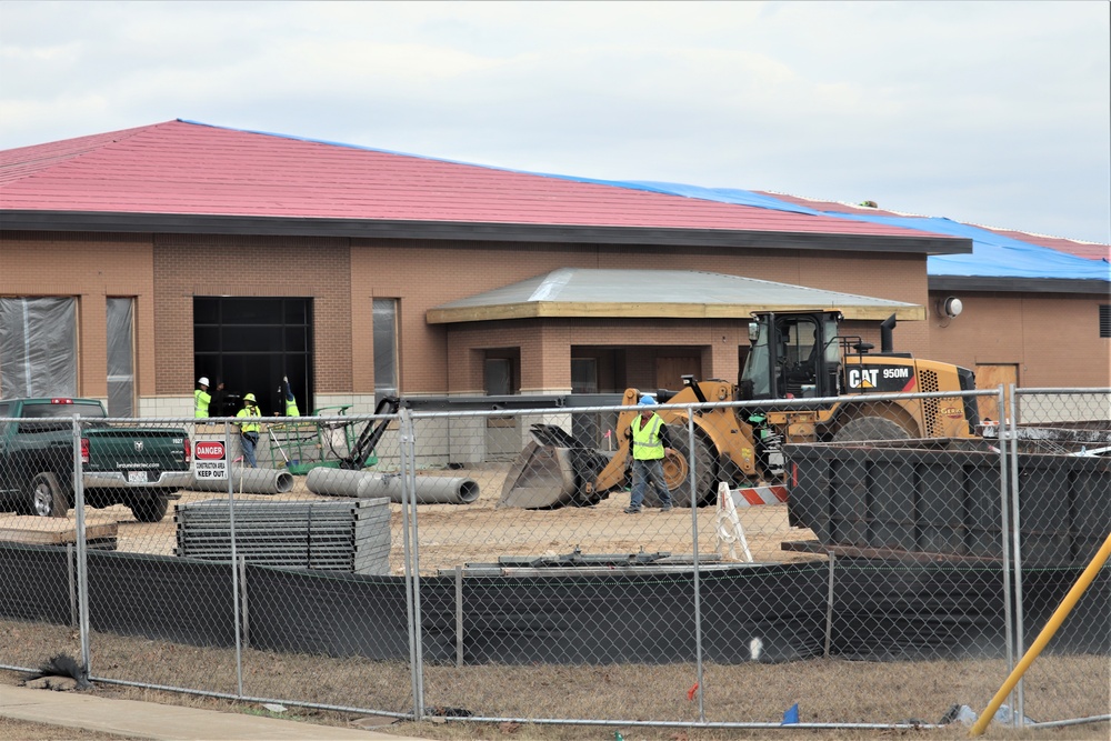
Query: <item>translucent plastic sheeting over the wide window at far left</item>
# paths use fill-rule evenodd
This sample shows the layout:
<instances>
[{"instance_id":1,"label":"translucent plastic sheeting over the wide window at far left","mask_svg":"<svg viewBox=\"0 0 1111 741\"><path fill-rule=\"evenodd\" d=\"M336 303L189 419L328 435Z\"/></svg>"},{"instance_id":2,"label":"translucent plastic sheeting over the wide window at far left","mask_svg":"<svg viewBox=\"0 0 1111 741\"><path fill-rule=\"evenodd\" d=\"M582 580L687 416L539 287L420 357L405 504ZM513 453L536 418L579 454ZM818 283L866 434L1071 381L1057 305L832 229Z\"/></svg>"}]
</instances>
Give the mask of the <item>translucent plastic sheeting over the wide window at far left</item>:
<instances>
[{"instance_id":1,"label":"translucent plastic sheeting over the wide window at far left","mask_svg":"<svg viewBox=\"0 0 1111 741\"><path fill-rule=\"evenodd\" d=\"M77 300L0 298L0 397L77 395Z\"/></svg>"}]
</instances>

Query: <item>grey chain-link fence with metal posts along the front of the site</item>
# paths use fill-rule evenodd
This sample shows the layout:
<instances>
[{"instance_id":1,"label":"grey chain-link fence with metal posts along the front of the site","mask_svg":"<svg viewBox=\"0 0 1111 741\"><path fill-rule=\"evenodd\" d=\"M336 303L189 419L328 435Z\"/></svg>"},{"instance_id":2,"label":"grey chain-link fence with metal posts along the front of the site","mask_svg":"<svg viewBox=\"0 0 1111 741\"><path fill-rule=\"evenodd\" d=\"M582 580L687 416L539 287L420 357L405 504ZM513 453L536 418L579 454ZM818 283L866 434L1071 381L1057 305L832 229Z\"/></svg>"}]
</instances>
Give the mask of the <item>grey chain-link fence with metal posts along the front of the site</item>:
<instances>
[{"instance_id":1,"label":"grey chain-link fence with metal posts along the front of the site","mask_svg":"<svg viewBox=\"0 0 1111 741\"><path fill-rule=\"evenodd\" d=\"M930 421L978 398L1007 421ZM1111 531L1108 399L4 420L0 664L399 717L938 723ZM1015 721L1109 717L1109 578Z\"/></svg>"}]
</instances>

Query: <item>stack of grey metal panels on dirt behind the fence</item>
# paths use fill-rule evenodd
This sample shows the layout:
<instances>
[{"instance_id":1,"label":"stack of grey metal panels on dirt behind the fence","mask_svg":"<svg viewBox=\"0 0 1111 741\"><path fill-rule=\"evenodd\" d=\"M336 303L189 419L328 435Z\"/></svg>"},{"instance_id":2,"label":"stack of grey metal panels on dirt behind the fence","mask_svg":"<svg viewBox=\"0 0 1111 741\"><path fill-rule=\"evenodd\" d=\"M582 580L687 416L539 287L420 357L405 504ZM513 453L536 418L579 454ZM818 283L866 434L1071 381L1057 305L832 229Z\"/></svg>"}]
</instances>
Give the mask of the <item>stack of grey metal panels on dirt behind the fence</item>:
<instances>
[{"instance_id":1,"label":"stack of grey metal panels on dirt behind the fence","mask_svg":"<svg viewBox=\"0 0 1111 741\"><path fill-rule=\"evenodd\" d=\"M294 569L387 574L390 571L388 499L333 502L227 500L178 507L176 554L210 561L236 555L248 563ZM232 517L233 515L233 517Z\"/></svg>"}]
</instances>

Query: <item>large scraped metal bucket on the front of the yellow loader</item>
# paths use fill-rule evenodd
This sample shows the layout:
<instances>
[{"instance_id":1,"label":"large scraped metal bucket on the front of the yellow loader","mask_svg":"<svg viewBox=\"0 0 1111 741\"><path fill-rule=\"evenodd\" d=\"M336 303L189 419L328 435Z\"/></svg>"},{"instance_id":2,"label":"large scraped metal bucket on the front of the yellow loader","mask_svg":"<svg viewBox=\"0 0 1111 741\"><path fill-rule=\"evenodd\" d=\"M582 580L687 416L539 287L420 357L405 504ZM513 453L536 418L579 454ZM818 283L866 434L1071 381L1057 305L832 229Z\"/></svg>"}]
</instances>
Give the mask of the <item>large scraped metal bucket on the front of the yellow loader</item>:
<instances>
[{"instance_id":1,"label":"large scraped metal bucket on the front of the yellow loader","mask_svg":"<svg viewBox=\"0 0 1111 741\"><path fill-rule=\"evenodd\" d=\"M579 445L554 425L534 424L532 437L506 475L498 507L542 510L597 504L601 495L587 493L587 484L594 481L609 458Z\"/></svg>"}]
</instances>

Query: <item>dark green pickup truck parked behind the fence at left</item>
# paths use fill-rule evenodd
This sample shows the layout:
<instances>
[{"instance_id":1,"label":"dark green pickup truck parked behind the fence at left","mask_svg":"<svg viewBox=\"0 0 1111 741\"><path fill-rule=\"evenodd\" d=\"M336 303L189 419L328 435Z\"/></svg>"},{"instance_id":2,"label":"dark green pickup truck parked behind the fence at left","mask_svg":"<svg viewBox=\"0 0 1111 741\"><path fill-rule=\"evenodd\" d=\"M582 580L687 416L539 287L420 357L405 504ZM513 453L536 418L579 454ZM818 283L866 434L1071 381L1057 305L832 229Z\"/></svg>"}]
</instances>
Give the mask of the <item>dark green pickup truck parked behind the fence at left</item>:
<instances>
[{"instance_id":1,"label":"dark green pickup truck parked behind the fence at left","mask_svg":"<svg viewBox=\"0 0 1111 741\"><path fill-rule=\"evenodd\" d=\"M126 504L140 522L166 517L169 500L193 480L189 434L97 422L107 414L96 399L0 399L0 505L66 517L74 502L78 414L86 504Z\"/></svg>"}]
</instances>

